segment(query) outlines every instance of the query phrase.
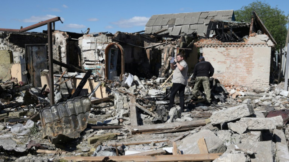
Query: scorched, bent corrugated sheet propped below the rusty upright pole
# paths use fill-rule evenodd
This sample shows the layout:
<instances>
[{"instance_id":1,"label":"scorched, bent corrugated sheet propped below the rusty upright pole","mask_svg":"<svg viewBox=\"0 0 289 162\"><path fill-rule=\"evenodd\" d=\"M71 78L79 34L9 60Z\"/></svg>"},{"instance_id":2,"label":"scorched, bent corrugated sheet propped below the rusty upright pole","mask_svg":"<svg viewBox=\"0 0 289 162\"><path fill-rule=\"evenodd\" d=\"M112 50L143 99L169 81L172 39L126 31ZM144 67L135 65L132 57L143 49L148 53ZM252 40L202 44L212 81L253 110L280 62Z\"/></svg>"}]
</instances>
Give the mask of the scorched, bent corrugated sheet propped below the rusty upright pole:
<instances>
[{"instance_id":1,"label":"scorched, bent corrugated sheet propped below the rusty upright pole","mask_svg":"<svg viewBox=\"0 0 289 162\"><path fill-rule=\"evenodd\" d=\"M43 137L80 137L86 129L90 108L90 99L82 96L40 110Z\"/></svg>"}]
</instances>

